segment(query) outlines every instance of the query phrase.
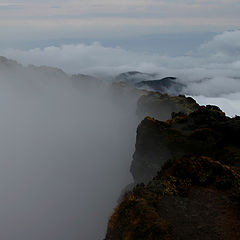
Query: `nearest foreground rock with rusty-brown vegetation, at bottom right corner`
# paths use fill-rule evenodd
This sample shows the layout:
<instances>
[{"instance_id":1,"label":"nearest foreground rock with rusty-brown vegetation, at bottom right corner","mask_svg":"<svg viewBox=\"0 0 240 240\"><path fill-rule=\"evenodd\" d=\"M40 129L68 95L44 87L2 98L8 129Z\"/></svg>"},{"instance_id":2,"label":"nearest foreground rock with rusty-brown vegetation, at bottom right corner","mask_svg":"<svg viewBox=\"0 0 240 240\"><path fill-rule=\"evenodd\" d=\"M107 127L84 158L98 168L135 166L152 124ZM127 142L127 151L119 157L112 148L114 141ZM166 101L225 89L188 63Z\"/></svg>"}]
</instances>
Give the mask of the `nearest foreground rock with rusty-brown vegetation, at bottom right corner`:
<instances>
[{"instance_id":1,"label":"nearest foreground rock with rusty-brown vegetation, at bottom right corner","mask_svg":"<svg viewBox=\"0 0 240 240\"><path fill-rule=\"evenodd\" d=\"M240 170L208 157L168 161L125 194L105 240L237 240Z\"/></svg>"}]
</instances>

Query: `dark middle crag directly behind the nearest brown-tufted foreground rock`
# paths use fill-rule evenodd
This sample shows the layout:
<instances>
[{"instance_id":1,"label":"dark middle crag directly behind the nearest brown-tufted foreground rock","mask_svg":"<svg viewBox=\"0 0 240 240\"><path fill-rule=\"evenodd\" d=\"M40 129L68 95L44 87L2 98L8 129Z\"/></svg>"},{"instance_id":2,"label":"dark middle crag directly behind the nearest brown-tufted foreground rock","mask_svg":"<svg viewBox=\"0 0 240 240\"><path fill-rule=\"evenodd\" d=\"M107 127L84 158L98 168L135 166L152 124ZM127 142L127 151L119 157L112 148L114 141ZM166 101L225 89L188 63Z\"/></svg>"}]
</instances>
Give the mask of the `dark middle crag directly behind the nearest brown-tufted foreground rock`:
<instances>
[{"instance_id":1,"label":"dark middle crag directly behind the nearest brown-tufted foreground rock","mask_svg":"<svg viewBox=\"0 0 240 240\"><path fill-rule=\"evenodd\" d=\"M189 154L240 166L239 136L239 118L226 117L215 106L165 122L147 117L137 129L131 173L135 182L148 182L167 160Z\"/></svg>"}]
</instances>

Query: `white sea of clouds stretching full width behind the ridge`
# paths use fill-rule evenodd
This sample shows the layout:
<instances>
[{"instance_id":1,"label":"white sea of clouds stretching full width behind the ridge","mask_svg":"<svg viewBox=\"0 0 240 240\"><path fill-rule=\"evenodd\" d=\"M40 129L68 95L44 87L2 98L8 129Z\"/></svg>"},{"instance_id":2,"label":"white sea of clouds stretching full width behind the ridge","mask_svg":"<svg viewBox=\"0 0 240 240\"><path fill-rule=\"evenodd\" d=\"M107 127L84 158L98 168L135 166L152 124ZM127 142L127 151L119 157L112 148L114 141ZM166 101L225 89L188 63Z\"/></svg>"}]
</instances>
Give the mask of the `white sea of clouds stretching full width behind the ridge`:
<instances>
[{"instance_id":1,"label":"white sea of clouds stretching full width behind the ridge","mask_svg":"<svg viewBox=\"0 0 240 240\"><path fill-rule=\"evenodd\" d=\"M67 73L111 78L125 71L174 76L186 84L184 93L199 103L220 105L229 115L240 114L240 30L226 31L203 43L197 51L170 57L91 45L49 46L30 50L8 49L2 55L24 65L59 67Z\"/></svg>"}]
</instances>

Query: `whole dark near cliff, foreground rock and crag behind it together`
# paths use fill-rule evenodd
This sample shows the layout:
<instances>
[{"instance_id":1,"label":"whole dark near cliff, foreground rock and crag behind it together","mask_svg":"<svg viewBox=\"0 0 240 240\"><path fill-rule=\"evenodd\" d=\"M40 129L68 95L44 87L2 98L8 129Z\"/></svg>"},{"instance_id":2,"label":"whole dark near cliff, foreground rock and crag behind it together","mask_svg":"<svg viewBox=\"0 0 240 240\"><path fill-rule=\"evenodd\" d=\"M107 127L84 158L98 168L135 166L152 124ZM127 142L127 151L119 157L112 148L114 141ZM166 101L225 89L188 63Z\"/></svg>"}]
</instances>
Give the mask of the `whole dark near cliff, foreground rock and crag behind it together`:
<instances>
[{"instance_id":1,"label":"whole dark near cliff, foreground rock and crag behind it together","mask_svg":"<svg viewBox=\"0 0 240 240\"><path fill-rule=\"evenodd\" d=\"M198 107L137 129L138 185L111 216L105 240L240 239L240 118Z\"/></svg>"}]
</instances>

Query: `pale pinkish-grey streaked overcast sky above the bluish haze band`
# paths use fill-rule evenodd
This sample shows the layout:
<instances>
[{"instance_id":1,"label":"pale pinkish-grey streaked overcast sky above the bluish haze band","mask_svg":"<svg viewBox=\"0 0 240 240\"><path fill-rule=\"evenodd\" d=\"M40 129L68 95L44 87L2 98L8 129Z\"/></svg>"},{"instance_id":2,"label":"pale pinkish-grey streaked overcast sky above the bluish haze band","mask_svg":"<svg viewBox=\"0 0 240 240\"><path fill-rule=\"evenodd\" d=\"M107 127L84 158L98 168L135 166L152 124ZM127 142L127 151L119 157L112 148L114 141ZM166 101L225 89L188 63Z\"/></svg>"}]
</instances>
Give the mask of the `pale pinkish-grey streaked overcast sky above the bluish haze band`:
<instances>
[{"instance_id":1,"label":"pale pinkish-grey streaked overcast sky above the bluish haze band","mask_svg":"<svg viewBox=\"0 0 240 240\"><path fill-rule=\"evenodd\" d=\"M0 0L1 44L239 28L240 0Z\"/></svg>"}]
</instances>

